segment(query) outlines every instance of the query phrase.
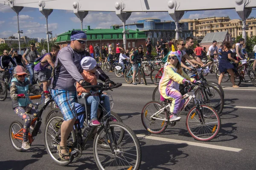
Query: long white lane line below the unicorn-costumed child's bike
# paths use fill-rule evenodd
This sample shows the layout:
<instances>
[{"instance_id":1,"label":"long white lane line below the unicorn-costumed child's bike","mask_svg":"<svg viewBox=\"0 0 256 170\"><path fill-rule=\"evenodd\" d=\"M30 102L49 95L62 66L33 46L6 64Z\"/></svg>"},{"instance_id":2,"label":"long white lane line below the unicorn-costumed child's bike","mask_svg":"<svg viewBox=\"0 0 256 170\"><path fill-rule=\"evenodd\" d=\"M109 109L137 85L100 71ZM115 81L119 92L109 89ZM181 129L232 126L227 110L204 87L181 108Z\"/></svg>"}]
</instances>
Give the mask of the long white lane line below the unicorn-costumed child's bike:
<instances>
[{"instance_id":1,"label":"long white lane line below the unicorn-costumed child's bike","mask_svg":"<svg viewBox=\"0 0 256 170\"><path fill-rule=\"evenodd\" d=\"M227 150L227 151L233 151L233 152L239 152L242 150L242 149L235 148L235 147L225 147L225 146L218 146L218 145L213 145L213 144L204 144L204 143L189 142L189 141L182 141L182 140L176 140L176 139L160 138L160 137L155 137L155 136L145 136L145 135L140 135L140 134L137 135L137 137L142 137L145 139L152 139L152 140L157 140L157 141L179 143L179 144L185 143L185 144L193 145L193 146L207 147L207 148L212 148L212 149Z\"/></svg>"}]
</instances>

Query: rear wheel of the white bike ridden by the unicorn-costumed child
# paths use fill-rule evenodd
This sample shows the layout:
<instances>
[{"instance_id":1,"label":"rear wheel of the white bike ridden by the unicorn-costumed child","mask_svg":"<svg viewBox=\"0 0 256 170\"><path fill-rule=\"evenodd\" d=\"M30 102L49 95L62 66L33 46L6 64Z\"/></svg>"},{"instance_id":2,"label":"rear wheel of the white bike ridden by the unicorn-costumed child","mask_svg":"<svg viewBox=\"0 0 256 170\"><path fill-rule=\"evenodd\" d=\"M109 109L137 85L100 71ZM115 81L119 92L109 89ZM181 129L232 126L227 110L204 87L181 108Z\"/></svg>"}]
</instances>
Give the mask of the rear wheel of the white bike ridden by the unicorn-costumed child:
<instances>
[{"instance_id":1,"label":"rear wheel of the white bike ridden by the unicorn-costumed child","mask_svg":"<svg viewBox=\"0 0 256 170\"><path fill-rule=\"evenodd\" d=\"M157 113L161 108L163 108L162 104L157 101L148 102L143 106L141 111L141 121L145 129L150 133L163 133L168 126L168 113L166 110L154 115L154 113ZM154 116L151 117L152 115Z\"/></svg>"}]
</instances>

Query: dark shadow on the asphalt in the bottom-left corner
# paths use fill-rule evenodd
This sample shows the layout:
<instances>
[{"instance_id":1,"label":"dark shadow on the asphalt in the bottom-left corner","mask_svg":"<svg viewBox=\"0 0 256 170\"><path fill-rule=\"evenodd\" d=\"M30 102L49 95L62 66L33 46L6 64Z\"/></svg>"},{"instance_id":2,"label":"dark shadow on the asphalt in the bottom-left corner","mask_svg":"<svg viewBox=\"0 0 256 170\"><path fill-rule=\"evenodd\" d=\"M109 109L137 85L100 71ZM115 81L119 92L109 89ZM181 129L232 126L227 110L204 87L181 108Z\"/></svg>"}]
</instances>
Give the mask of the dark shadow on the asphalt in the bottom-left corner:
<instances>
[{"instance_id":1,"label":"dark shadow on the asphalt in the bottom-left corner","mask_svg":"<svg viewBox=\"0 0 256 170\"><path fill-rule=\"evenodd\" d=\"M0 167L2 170L23 170L27 165L33 164L39 159L29 159L29 160L9 160L0 161Z\"/></svg>"}]
</instances>

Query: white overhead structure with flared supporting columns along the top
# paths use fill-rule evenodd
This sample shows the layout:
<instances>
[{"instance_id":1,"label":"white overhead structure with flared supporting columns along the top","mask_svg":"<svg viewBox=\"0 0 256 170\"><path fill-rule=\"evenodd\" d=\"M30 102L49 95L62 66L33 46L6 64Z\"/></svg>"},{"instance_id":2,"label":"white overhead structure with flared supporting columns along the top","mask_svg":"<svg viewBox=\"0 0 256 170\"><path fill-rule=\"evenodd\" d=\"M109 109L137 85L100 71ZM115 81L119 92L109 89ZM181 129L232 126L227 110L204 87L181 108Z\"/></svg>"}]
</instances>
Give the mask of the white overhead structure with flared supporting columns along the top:
<instances>
[{"instance_id":1,"label":"white overhead structure with flared supporting columns along the top","mask_svg":"<svg viewBox=\"0 0 256 170\"><path fill-rule=\"evenodd\" d=\"M256 0L97 0L100 5L96 5L90 0L9 0L9 5L17 13L23 7L39 8L45 16L46 22L53 9L73 10L74 14L81 21L81 29L83 19L88 11L114 11L123 23L123 40L126 49L126 31L125 22L131 16L132 12L168 12L176 24L176 39L178 39L179 31L178 22L185 11L201 11L201 10L218 10L218 9L236 9L239 17L243 21L242 36L246 40L245 21L249 17L252 8L256 8ZM202 3L203 1L203 3ZM18 22L18 39L20 40L19 20ZM47 23L47 42L49 46L49 34ZM48 47L49 51L49 47Z\"/></svg>"}]
</instances>

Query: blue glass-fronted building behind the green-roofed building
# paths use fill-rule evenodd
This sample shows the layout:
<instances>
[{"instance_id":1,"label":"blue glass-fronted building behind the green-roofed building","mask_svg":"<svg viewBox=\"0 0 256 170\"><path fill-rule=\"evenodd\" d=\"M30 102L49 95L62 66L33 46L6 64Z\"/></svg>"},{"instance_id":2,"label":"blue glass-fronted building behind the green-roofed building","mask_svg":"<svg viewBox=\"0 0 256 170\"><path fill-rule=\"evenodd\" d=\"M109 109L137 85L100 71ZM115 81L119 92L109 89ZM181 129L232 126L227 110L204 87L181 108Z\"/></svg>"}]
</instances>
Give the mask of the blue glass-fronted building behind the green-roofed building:
<instances>
[{"instance_id":1,"label":"blue glass-fronted building behind the green-roofed building","mask_svg":"<svg viewBox=\"0 0 256 170\"><path fill-rule=\"evenodd\" d=\"M122 24L114 24L111 27L122 28ZM157 43L157 40L163 38L164 40L170 40L175 38L175 22L174 21L161 21L156 18L143 18L133 23L125 23L125 29L136 30L145 32L146 36L151 38L153 44ZM193 36L193 30L189 30L189 23L181 21L179 28L182 29L179 33L179 37L186 39L186 37Z\"/></svg>"}]
</instances>

